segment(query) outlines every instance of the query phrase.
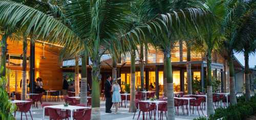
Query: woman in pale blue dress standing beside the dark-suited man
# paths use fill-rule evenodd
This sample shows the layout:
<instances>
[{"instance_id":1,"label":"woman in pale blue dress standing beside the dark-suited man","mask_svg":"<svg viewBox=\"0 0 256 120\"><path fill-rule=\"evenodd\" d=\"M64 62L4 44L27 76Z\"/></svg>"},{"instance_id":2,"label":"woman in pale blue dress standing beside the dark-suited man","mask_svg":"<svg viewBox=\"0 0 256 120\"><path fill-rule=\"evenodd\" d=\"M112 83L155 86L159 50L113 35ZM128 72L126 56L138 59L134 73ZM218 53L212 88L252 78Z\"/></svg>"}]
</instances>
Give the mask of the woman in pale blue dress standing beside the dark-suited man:
<instances>
[{"instance_id":1,"label":"woman in pale blue dress standing beside the dark-suited man","mask_svg":"<svg viewBox=\"0 0 256 120\"><path fill-rule=\"evenodd\" d=\"M117 83L117 80L114 81L114 84L112 85L113 96L112 96L112 103L116 106L116 111L114 114L118 113L118 107L119 103L121 102L121 94L120 94L120 86Z\"/></svg>"}]
</instances>

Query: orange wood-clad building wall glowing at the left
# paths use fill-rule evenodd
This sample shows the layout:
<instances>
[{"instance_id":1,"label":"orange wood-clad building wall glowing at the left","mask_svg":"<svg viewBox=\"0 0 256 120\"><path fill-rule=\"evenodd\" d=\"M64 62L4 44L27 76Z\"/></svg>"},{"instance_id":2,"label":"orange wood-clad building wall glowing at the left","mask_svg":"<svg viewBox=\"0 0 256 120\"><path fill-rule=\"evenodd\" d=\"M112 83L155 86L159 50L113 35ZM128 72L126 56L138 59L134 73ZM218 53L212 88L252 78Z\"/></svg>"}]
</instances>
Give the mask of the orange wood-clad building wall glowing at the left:
<instances>
[{"instance_id":1,"label":"orange wood-clad building wall glowing at the left","mask_svg":"<svg viewBox=\"0 0 256 120\"><path fill-rule=\"evenodd\" d=\"M7 41L7 44L7 89L8 91L20 91L20 80L22 80L23 44L22 41L10 40ZM60 68L61 61L59 61L60 46L42 41L36 41L34 47L30 47L30 45L31 44L28 43L27 79L30 81L31 79L40 77L42 79L44 89L62 89L62 70ZM30 54L31 50L32 52L34 50L34 62L33 58L31 58L33 57Z\"/></svg>"}]
</instances>

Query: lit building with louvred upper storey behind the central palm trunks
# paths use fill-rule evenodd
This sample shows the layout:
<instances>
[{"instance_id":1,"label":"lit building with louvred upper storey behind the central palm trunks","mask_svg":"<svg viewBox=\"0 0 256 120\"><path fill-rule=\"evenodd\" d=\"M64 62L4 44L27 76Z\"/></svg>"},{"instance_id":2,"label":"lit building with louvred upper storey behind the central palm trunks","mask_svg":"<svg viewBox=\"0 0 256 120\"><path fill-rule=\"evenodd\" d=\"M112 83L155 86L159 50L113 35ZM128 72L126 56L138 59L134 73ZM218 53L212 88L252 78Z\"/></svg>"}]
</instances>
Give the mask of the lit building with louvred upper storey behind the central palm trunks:
<instances>
[{"instance_id":1,"label":"lit building with louvred upper storey behind the central palm trunks","mask_svg":"<svg viewBox=\"0 0 256 120\"><path fill-rule=\"evenodd\" d=\"M151 89L151 84L156 87L159 86L160 94L163 91L163 61L164 55L160 50L154 49L154 47L148 44L149 49L145 51L144 48L144 86L146 89ZM139 47L138 47L138 51ZM174 90L175 91L187 91L187 80L186 80L186 44L184 42L175 44L172 49L172 68L173 68L173 80L174 80ZM141 85L140 84L140 69L139 69L139 53L136 52L136 77L135 84L136 89ZM105 82L105 76L112 74L112 69L109 65L112 65L112 59L104 59L101 61L101 74L102 82ZM121 87L124 90L124 84L130 84L130 66L131 66L131 57L122 55L121 63L117 63L117 67L126 63L121 68ZM90 64L90 63L89 63ZM81 65L81 64L80 64ZM63 66L63 72L73 72L74 64ZM206 58L204 54L198 54L195 51L191 51L191 74L192 80L198 81L201 89L205 90L205 80L206 80ZM242 69L242 66L238 61L234 60L234 67L236 70ZM90 67L88 67L90 69ZM88 70L88 75L90 75L90 70ZM225 92L229 91L229 67L225 56L221 53L214 52L212 53L212 76L218 81L221 81L221 85L218 90ZM90 76L88 77L89 82L91 80ZM240 80L240 79L239 79ZM237 79L238 81L238 79ZM238 82L237 82L238 83ZM101 89L104 89L103 84L101 84ZM155 89L155 88L154 88Z\"/></svg>"}]
</instances>

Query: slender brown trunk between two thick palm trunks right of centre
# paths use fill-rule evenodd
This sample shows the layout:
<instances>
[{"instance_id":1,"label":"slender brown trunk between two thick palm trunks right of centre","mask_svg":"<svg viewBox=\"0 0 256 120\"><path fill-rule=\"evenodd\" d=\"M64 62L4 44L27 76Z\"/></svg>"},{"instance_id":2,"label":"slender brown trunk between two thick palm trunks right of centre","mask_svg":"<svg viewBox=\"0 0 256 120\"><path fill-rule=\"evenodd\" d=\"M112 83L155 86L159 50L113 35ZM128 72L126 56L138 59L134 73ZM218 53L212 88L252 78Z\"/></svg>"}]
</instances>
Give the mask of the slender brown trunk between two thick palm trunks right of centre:
<instances>
[{"instance_id":1,"label":"slender brown trunk between two thick palm trunks right of centre","mask_svg":"<svg viewBox=\"0 0 256 120\"><path fill-rule=\"evenodd\" d=\"M188 94L192 94L192 76L191 76L191 56L190 56L190 45L187 42L187 63L186 63L186 67L187 67L187 91Z\"/></svg>"}]
</instances>

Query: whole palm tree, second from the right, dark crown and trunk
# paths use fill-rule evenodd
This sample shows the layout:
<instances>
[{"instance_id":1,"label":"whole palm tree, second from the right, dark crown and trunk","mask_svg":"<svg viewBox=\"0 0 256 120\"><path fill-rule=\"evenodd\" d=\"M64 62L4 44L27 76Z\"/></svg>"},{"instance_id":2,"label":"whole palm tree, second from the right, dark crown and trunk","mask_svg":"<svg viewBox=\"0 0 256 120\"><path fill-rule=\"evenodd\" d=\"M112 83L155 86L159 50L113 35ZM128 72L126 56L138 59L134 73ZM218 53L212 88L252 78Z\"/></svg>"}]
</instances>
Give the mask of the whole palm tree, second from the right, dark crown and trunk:
<instances>
[{"instance_id":1,"label":"whole palm tree, second from the right, dark crown and trunk","mask_svg":"<svg viewBox=\"0 0 256 120\"><path fill-rule=\"evenodd\" d=\"M226 39L222 43L222 48L224 48L222 50L228 56L227 60L229 65L230 103L234 105L237 104L237 98L234 81L233 51L238 49L241 43L239 36L241 36L243 32L240 31L242 28L246 27L247 24L244 24L244 20L250 17L250 15L248 16L247 13L252 9L246 7L249 4L245 1L230 1L230 3L227 5L230 14L227 14L225 24L223 25Z\"/></svg>"}]
</instances>

